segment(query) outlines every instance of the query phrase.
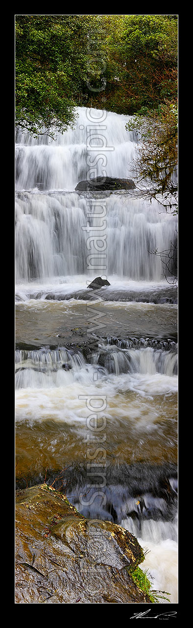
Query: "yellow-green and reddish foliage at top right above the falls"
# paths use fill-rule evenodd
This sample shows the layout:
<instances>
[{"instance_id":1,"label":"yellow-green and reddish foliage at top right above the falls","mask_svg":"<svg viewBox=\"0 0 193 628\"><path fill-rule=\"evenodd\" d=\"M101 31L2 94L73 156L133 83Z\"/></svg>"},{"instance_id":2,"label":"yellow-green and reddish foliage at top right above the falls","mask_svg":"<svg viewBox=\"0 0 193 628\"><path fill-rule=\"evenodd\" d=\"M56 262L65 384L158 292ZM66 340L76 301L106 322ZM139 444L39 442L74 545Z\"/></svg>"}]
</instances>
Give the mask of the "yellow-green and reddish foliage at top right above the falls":
<instances>
[{"instance_id":1,"label":"yellow-green and reddish foliage at top right above the falls","mask_svg":"<svg viewBox=\"0 0 193 628\"><path fill-rule=\"evenodd\" d=\"M106 109L134 114L141 107L157 108L165 98L177 98L177 20L173 16L102 16L101 28ZM95 97L95 106L99 107L100 99L102 95Z\"/></svg>"}]
</instances>

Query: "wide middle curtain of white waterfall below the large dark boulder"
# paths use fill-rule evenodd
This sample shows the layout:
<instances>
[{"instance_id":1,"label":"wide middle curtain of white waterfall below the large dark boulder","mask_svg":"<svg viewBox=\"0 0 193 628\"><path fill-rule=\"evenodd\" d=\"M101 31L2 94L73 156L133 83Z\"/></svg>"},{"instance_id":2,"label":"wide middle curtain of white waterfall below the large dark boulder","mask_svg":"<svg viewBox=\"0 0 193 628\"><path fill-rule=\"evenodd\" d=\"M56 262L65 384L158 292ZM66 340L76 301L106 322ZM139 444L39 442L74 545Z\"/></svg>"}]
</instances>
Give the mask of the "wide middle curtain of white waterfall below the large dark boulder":
<instances>
[{"instance_id":1,"label":"wide middle curtain of white waterfall below the large dark boulder","mask_svg":"<svg viewBox=\"0 0 193 628\"><path fill-rule=\"evenodd\" d=\"M101 219L87 219L93 214L92 195L67 193L58 195L25 193L16 200L16 281L87 272L87 256L95 253L92 266L104 266L129 279L160 281L163 278L159 256L175 242L176 217L158 214L156 201L147 203L128 195L112 194L103 198L106 207L106 249L104 256L88 242L91 236L100 242ZM94 214L93 214L94 216ZM95 226L89 234L83 229L87 222ZM90 250L89 248L90 247ZM97 261L99 259L99 261ZM95 271L97 272L97 271ZM99 272L99 271L98 271ZM93 273L92 273L93 274Z\"/></svg>"}]
</instances>

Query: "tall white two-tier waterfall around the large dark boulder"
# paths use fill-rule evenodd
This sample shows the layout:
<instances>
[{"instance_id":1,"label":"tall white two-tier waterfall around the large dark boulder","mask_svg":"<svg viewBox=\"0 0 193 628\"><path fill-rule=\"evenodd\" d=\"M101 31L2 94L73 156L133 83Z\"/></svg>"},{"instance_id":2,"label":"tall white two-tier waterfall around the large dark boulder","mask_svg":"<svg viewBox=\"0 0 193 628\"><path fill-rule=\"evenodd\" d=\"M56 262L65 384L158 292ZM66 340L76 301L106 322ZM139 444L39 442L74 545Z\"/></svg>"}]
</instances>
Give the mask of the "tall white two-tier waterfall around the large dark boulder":
<instances>
[{"instance_id":1,"label":"tall white two-tier waterfall around the large dark boulder","mask_svg":"<svg viewBox=\"0 0 193 628\"><path fill-rule=\"evenodd\" d=\"M106 249L101 266L106 268L106 274L135 281L160 281L162 262L152 252L170 249L170 242L176 242L176 217L162 212L155 200L150 204L136 198L133 190L101 194L74 191L78 181L87 178L89 165L91 178L104 172L100 157L104 125L99 127L95 122L95 131L91 131L94 136L89 136L92 125L86 112L85 107L78 107L75 129L55 133L55 139L44 135L35 139L17 133L16 282L45 282L60 276L86 274L89 225L92 228L89 236L95 237L97 251L101 247L100 199L101 206L105 206ZM102 114L97 110L92 112L96 120ZM135 133L125 128L129 118L111 112L106 116L103 133L109 148L107 176L132 178L137 144ZM96 152L92 152L93 143L99 153L97 158ZM91 256L94 257L92 249ZM93 264L94 259L91 267Z\"/></svg>"}]
</instances>

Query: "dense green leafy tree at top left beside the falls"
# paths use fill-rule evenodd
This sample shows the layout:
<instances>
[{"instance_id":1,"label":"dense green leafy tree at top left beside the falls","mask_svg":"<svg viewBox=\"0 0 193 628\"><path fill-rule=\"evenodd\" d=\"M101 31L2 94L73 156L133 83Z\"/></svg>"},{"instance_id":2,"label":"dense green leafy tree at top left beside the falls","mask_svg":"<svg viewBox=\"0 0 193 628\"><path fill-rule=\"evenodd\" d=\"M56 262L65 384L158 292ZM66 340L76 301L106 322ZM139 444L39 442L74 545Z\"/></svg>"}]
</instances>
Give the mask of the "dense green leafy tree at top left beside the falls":
<instances>
[{"instance_id":1,"label":"dense green leafy tree at top left beside the falls","mask_svg":"<svg viewBox=\"0 0 193 628\"><path fill-rule=\"evenodd\" d=\"M87 77L86 23L84 16L16 16L16 126L36 134L73 125Z\"/></svg>"}]
</instances>

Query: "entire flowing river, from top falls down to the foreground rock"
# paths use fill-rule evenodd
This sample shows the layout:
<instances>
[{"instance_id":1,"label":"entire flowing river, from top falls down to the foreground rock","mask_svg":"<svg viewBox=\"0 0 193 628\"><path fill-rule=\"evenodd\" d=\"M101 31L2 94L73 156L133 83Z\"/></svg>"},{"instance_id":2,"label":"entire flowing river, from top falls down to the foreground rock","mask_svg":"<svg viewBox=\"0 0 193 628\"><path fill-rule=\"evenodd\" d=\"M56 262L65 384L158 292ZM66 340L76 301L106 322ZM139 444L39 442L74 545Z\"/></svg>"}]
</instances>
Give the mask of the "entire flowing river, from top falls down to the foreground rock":
<instances>
[{"instance_id":1,"label":"entire flowing river, from top falls down to the foreground rock","mask_svg":"<svg viewBox=\"0 0 193 628\"><path fill-rule=\"evenodd\" d=\"M18 482L26 475L29 484L40 482L47 468L52 484L58 469L69 465L71 501L85 516L130 529L149 547L144 565L153 587L171 592L176 602L176 290L152 252L175 244L177 218L157 201L137 198L135 190L75 191L88 170L91 177L104 170L91 150L95 144L99 157L101 124L89 140L87 110L78 107L77 113L75 129L55 133L54 140L20 131L16 136ZM101 119L101 111L92 113ZM106 145L113 148L107 176L133 178L137 144L127 121L106 116ZM106 205L106 268L96 272L88 270L87 256L88 238L101 237L99 217L89 232L100 199ZM111 285L87 290L103 272ZM89 306L98 303L105 325L93 333L96 347L87 350ZM82 398L99 394L108 400L107 503L80 507L89 447Z\"/></svg>"}]
</instances>

